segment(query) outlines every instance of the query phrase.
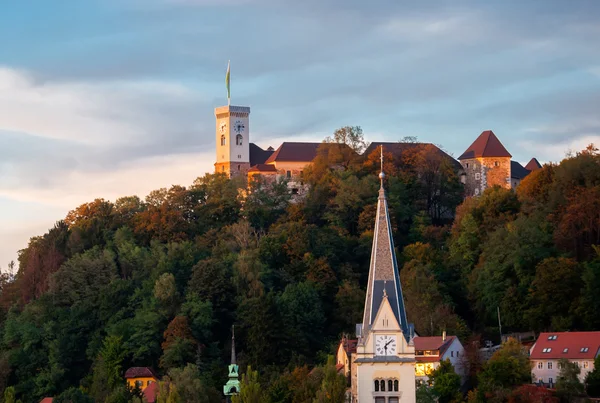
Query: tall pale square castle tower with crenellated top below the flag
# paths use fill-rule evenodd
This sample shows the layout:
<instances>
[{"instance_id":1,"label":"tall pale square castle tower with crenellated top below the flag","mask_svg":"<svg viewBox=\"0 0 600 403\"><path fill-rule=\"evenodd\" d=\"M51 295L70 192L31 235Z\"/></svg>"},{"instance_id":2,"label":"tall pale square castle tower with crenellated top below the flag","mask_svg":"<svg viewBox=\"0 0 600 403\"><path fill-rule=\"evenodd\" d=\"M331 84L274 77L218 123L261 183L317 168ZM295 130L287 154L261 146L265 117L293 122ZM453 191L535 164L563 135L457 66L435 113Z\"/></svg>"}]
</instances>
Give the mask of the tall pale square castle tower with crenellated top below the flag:
<instances>
[{"instance_id":1,"label":"tall pale square castle tower with crenellated top below the flag","mask_svg":"<svg viewBox=\"0 0 600 403\"><path fill-rule=\"evenodd\" d=\"M250 108L215 108L217 159L215 173L246 175L250 169Z\"/></svg>"}]
</instances>

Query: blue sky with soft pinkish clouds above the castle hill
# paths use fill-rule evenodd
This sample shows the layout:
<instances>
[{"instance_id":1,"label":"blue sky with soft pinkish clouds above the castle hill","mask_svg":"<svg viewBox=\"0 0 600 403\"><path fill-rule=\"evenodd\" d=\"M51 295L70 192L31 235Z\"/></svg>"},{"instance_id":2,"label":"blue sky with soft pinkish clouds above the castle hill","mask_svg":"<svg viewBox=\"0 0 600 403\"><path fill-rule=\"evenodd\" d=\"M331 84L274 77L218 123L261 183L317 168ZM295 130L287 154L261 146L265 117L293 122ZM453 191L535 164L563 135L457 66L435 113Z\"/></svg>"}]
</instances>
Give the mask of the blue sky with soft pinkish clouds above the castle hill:
<instances>
[{"instance_id":1,"label":"blue sky with soft pinkish clouds above the castle hill","mask_svg":"<svg viewBox=\"0 0 600 403\"><path fill-rule=\"evenodd\" d=\"M5 0L0 268L96 198L190 185L213 109L250 141L415 136L455 157L491 129L513 158L600 145L596 0Z\"/></svg>"}]
</instances>

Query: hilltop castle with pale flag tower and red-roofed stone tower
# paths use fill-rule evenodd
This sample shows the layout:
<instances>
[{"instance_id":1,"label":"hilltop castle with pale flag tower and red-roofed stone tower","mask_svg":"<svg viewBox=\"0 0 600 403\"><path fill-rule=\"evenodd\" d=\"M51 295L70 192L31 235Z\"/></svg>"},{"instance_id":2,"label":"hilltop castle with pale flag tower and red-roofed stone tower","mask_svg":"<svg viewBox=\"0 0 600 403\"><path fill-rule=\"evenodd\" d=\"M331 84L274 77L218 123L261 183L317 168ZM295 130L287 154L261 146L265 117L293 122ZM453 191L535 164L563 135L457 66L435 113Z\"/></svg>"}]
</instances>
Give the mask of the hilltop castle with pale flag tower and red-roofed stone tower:
<instances>
[{"instance_id":1,"label":"hilltop castle with pale flag tower and red-roofed stone tower","mask_svg":"<svg viewBox=\"0 0 600 403\"><path fill-rule=\"evenodd\" d=\"M249 179L254 175L285 177L290 181L288 186L293 194L302 190L300 181L295 179L301 178L302 171L316 158L322 143L283 142L276 150L272 147L263 150L250 142L249 107L220 106L215 108L215 118L215 173L224 173L230 177L243 175ZM411 145L414 144L371 143L363 155L369 155L380 146L386 152L400 155ZM478 196L494 185L514 189L530 172L541 168L536 158L532 158L525 166L512 160L512 155L491 130L482 132L458 157L458 161L441 149L437 150L455 166L465 185L465 196Z\"/></svg>"}]
</instances>

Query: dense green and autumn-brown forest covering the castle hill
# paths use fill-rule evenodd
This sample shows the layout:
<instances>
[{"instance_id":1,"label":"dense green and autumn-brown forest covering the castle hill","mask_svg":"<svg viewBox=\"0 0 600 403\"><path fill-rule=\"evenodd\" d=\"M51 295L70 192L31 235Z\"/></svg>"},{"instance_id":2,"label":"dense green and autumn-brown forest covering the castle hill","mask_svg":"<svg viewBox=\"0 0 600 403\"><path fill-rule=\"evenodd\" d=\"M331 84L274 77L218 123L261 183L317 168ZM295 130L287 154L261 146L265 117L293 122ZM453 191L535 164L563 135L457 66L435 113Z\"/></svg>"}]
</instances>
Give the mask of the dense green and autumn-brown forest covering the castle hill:
<instances>
[{"instance_id":1,"label":"dense green and autumn-brown forest covering the castle hill","mask_svg":"<svg viewBox=\"0 0 600 403\"><path fill-rule=\"evenodd\" d=\"M362 318L380 170L379 151L339 134L300 200L285 180L206 174L90 201L32 237L0 275L4 401L136 401L123 374L149 366L179 388L162 401L219 402L232 325L263 401L335 401L320 389ZM385 153L384 171L419 335L498 343L498 308L503 333L600 330L596 148L477 198L430 144Z\"/></svg>"}]
</instances>

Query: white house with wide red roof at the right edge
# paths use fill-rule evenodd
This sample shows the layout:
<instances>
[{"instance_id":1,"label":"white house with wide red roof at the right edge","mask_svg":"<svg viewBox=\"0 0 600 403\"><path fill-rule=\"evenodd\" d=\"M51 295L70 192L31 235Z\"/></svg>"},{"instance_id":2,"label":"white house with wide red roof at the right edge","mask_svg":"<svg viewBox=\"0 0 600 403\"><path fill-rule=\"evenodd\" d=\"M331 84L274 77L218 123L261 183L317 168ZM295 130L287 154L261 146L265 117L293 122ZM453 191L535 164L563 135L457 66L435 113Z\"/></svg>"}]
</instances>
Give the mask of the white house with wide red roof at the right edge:
<instances>
[{"instance_id":1,"label":"white house with wide red roof at the right edge","mask_svg":"<svg viewBox=\"0 0 600 403\"><path fill-rule=\"evenodd\" d=\"M600 332L540 333L529 355L533 382L553 385L562 358L579 366L579 379L583 381L594 369L594 359L599 352Z\"/></svg>"}]
</instances>

